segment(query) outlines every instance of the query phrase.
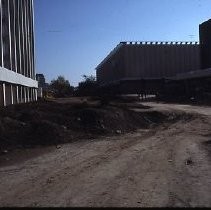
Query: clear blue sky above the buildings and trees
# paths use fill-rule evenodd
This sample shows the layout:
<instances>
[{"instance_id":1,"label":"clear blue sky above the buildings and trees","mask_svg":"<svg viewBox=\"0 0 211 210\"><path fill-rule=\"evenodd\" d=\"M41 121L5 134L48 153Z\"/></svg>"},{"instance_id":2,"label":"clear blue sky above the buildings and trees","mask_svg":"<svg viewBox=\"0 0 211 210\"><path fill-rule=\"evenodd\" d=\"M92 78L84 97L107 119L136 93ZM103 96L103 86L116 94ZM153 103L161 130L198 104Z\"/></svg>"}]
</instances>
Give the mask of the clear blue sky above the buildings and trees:
<instances>
[{"instance_id":1,"label":"clear blue sky above the buildings and trees","mask_svg":"<svg viewBox=\"0 0 211 210\"><path fill-rule=\"evenodd\" d=\"M36 71L77 86L120 41L198 41L211 0L34 0Z\"/></svg>"}]
</instances>

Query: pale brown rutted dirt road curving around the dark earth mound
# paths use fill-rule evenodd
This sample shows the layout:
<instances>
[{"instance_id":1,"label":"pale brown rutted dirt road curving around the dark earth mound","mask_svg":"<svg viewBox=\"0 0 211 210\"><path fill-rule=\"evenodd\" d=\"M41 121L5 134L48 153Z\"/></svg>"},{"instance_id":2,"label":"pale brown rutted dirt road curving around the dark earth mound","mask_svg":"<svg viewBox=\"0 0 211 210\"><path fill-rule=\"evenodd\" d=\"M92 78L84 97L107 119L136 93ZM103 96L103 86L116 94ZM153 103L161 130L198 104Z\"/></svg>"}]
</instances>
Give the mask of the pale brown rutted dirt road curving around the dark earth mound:
<instances>
[{"instance_id":1,"label":"pale brown rutted dirt road curving around the dark earth mound","mask_svg":"<svg viewBox=\"0 0 211 210\"><path fill-rule=\"evenodd\" d=\"M211 207L211 108L145 105L200 116L1 167L0 206Z\"/></svg>"}]
</instances>

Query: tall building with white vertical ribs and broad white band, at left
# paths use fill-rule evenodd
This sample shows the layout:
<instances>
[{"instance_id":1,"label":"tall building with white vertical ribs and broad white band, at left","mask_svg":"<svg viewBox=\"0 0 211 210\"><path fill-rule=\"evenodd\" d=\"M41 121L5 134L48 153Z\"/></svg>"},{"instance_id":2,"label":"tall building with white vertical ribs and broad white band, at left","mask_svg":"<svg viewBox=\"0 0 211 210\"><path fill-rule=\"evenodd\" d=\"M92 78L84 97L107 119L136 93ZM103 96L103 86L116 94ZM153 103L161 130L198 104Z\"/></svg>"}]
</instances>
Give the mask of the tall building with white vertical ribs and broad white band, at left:
<instances>
[{"instance_id":1,"label":"tall building with white vertical ribs and broad white band, at left","mask_svg":"<svg viewBox=\"0 0 211 210\"><path fill-rule=\"evenodd\" d=\"M37 100L33 0L0 0L0 106Z\"/></svg>"}]
</instances>

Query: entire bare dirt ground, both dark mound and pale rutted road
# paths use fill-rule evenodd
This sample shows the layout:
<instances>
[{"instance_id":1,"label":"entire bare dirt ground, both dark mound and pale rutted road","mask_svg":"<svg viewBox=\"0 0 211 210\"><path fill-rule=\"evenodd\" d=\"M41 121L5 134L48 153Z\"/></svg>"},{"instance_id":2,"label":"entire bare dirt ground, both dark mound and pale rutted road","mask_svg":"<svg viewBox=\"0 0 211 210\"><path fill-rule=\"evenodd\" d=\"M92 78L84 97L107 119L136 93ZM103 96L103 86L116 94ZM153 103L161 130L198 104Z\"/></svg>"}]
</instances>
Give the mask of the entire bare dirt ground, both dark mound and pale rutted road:
<instances>
[{"instance_id":1,"label":"entire bare dirt ground, both dark mound and pale rutted road","mask_svg":"<svg viewBox=\"0 0 211 210\"><path fill-rule=\"evenodd\" d=\"M211 107L75 98L0 117L1 207L211 207Z\"/></svg>"}]
</instances>

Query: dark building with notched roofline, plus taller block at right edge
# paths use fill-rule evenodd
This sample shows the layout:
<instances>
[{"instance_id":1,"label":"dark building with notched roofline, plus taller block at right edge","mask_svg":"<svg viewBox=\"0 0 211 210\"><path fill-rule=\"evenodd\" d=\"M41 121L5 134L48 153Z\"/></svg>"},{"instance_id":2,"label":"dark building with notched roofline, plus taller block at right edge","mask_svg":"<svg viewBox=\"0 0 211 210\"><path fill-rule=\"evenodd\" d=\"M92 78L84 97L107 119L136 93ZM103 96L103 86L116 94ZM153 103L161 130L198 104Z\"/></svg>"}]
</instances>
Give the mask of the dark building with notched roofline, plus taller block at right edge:
<instances>
[{"instance_id":1,"label":"dark building with notched roofline, plus taller block at right edge","mask_svg":"<svg viewBox=\"0 0 211 210\"><path fill-rule=\"evenodd\" d=\"M200 43L120 42L97 66L97 81L120 93L156 93L166 81L210 77L210 35L211 20L200 25Z\"/></svg>"}]
</instances>

